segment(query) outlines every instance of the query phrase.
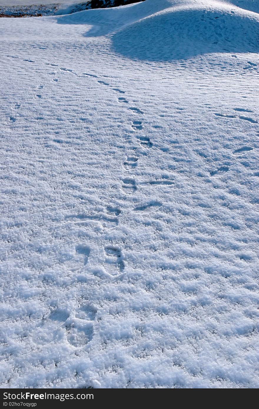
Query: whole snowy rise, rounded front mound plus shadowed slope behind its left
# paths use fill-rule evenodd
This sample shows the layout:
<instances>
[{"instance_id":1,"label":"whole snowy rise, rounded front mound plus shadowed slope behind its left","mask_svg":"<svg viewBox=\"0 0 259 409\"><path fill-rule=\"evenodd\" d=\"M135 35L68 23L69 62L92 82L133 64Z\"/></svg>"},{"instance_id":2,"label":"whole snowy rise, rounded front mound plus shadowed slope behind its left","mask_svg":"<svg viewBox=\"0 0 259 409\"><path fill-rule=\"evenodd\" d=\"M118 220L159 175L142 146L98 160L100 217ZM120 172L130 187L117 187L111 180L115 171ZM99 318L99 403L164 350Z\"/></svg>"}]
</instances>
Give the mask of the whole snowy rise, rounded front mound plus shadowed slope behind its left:
<instances>
[{"instance_id":1,"label":"whole snowy rise, rounded front mound plus shadowed slope behind its left","mask_svg":"<svg viewBox=\"0 0 259 409\"><path fill-rule=\"evenodd\" d=\"M128 7L82 11L58 22L89 25L87 37L110 34L115 52L140 60L259 51L259 15L225 2L146 0Z\"/></svg>"}]
</instances>

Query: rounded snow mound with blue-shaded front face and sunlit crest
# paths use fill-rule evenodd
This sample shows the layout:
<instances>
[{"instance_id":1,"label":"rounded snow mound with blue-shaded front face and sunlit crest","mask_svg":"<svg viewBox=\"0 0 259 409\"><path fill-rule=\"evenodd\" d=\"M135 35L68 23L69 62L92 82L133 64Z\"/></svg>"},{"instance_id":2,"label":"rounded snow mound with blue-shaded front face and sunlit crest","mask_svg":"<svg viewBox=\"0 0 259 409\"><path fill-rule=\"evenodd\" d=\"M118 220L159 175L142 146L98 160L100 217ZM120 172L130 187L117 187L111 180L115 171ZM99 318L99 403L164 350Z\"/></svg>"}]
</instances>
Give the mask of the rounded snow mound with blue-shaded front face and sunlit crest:
<instances>
[{"instance_id":1,"label":"rounded snow mound with blue-shaded front face and sunlit crest","mask_svg":"<svg viewBox=\"0 0 259 409\"><path fill-rule=\"evenodd\" d=\"M258 52L259 16L231 6L169 9L117 32L113 48L124 56L150 61Z\"/></svg>"}]
</instances>

